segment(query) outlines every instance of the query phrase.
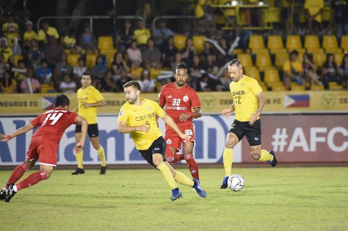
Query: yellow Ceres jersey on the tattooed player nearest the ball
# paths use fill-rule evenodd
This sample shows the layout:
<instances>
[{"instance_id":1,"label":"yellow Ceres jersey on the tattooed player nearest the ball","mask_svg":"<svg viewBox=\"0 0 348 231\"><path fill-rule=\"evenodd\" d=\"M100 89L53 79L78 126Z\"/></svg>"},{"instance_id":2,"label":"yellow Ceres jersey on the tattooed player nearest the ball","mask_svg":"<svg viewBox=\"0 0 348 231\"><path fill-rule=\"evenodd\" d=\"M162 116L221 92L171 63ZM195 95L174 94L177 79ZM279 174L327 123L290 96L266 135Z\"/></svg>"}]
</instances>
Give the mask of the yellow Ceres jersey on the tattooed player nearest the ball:
<instances>
[{"instance_id":1,"label":"yellow Ceres jersey on the tattooed player nearest the ball","mask_svg":"<svg viewBox=\"0 0 348 231\"><path fill-rule=\"evenodd\" d=\"M235 105L236 120L250 121L251 115L258 109L256 95L262 91L258 80L244 75L238 82L230 83L230 90Z\"/></svg>"}]
</instances>

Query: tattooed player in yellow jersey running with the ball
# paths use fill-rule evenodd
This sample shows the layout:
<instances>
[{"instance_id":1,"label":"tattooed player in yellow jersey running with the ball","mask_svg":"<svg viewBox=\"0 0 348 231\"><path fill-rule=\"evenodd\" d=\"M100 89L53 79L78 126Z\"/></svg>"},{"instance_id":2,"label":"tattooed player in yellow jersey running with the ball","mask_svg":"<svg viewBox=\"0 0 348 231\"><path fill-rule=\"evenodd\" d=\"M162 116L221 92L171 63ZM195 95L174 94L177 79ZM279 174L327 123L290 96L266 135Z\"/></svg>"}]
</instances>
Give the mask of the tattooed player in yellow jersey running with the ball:
<instances>
[{"instance_id":1,"label":"tattooed player in yellow jersey running with the ball","mask_svg":"<svg viewBox=\"0 0 348 231\"><path fill-rule=\"evenodd\" d=\"M222 116L228 118L236 111L236 118L226 137L223 154L225 177L220 188L227 188L227 181L231 176L233 148L244 136L249 142L253 159L268 161L273 167L277 164L273 151L261 150L260 114L266 101L261 86L256 79L243 75L243 67L238 59L228 64L228 74L232 79L230 90L233 103L230 108L222 111Z\"/></svg>"}]
</instances>

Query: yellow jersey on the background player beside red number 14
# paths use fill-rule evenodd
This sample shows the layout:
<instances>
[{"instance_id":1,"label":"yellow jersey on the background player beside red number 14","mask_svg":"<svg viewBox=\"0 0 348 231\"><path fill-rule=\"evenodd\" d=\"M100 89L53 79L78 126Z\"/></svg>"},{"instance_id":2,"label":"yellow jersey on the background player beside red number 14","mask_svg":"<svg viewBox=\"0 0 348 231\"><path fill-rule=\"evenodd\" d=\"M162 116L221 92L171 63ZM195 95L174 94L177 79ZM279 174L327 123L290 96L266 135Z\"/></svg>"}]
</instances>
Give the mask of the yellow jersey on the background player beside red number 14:
<instances>
[{"instance_id":1,"label":"yellow jersey on the background player beside red number 14","mask_svg":"<svg viewBox=\"0 0 348 231\"><path fill-rule=\"evenodd\" d=\"M84 107L82 103L96 103L103 100L103 96L93 86L78 90L79 115L84 117L88 124L96 124L96 107Z\"/></svg>"}]
</instances>

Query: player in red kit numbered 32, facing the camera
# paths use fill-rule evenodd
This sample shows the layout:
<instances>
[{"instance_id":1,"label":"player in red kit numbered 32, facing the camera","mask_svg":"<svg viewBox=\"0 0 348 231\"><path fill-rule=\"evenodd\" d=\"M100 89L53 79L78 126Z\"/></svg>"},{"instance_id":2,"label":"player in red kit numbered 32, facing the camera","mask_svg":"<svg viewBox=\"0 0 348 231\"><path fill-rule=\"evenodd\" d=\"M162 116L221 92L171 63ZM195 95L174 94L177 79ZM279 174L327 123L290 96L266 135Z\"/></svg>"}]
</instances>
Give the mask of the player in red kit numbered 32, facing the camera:
<instances>
[{"instance_id":1,"label":"player in red kit numbered 32, facing the camera","mask_svg":"<svg viewBox=\"0 0 348 231\"><path fill-rule=\"evenodd\" d=\"M170 163L185 159L192 177L199 180L198 165L193 158L192 119L202 116L200 101L196 91L186 84L188 78L186 65L179 64L175 67L174 78L175 82L163 86L159 104L165 106L166 113L173 118L180 131L190 137L190 140L184 143L173 129L166 125L166 159ZM191 111L192 107L194 112ZM183 144L183 155L177 154L181 150L181 144Z\"/></svg>"}]
</instances>

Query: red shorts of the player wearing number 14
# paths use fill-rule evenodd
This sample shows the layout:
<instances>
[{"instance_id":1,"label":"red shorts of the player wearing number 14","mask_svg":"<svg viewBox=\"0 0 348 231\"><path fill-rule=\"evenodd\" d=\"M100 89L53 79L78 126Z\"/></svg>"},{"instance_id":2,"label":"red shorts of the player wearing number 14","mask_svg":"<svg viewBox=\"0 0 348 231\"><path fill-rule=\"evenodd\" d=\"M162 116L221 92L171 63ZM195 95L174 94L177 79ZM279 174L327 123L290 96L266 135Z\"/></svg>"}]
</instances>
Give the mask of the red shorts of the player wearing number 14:
<instances>
[{"instance_id":1,"label":"red shorts of the player wearing number 14","mask_svg":"<svg viewBox=\"0 0 348 231\"><path fill-rule=\"evenodd\" d=\"M26 154L29 160L39 159L40 164L57 166L57 140L48 140L45 136L38 135L31 138L29 150Z\"/></svg>"}]
</instances>

